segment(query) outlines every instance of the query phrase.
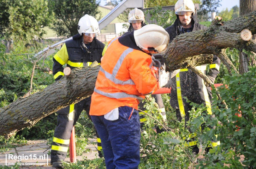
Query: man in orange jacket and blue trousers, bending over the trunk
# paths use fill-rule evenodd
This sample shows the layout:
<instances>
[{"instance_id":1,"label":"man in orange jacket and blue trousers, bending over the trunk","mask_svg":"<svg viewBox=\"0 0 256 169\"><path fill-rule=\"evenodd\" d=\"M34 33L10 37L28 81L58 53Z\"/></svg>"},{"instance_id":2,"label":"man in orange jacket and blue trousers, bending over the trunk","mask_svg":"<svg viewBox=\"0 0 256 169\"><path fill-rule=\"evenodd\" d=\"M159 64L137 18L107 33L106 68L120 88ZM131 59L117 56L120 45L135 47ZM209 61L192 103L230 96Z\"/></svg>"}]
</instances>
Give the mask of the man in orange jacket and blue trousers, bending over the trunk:
<instances>
[{"instance_id":1,"label":"man in orange jacket and blue trousers, bending over the trunk","mask_svg":"<svg viewBox=\"0 0 256 169\"><path fill-rule=\"evenodd\" d=\"M138 103L157 89L151 54L166 50L168 33L149 24L110 41L91 96L90 115L101 138L107 169L137 169Z\"/></svg>"}]
</instances>

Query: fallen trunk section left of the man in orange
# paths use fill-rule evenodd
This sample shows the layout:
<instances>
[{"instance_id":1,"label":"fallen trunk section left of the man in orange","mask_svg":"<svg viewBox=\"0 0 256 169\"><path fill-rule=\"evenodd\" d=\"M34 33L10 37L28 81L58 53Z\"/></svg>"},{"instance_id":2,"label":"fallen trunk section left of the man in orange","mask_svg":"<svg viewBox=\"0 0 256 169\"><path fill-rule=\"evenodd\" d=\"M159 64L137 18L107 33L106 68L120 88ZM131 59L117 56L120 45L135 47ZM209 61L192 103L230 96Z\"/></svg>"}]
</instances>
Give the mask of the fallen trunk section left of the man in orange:
<instances>
[{"instance_id":1,"label":"fallen trunk section left of the man in orange","mask_svg":"<svg viewBox=\"0 0 256 169\"><path fill-rule=\"evenodd\" d=\"M76 68L70 81L73 90L66 86L62 77L40 92L0 108L0 135L11 134L36 124L40 119L61 108L89 97L94 90L100 66Z\"/></svg>"}]
</instances>

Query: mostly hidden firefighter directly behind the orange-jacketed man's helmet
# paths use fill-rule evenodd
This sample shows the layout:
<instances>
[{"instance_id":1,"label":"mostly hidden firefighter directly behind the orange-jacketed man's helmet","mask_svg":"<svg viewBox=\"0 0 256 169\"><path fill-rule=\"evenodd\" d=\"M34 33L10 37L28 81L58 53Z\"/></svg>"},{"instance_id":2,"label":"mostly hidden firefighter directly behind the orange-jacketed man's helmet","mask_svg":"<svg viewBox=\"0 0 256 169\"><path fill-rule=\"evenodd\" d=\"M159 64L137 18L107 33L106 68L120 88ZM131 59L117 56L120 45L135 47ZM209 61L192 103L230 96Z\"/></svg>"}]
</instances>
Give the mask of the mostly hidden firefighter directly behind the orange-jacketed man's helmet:
<instances>
[{"instance_id":1,"label":"mostly hidden firefighter directly behind the orange-jacketed man's helmet","mask_svg":"<svg viewBox=\"0 0 256 169\"><path fill-rule=\"evenodd\" d=\"M138 8L132 9L128 14L128 22L130 23L130 26L129 26L127 32L125 32L123 34L123 36L133 32L135 30L138 30L146 25L145 24L145 16L144 16L143 11ZM152 95L152 96L155 98L155 101L159 106L159 111L161 112L160 114L161 114L163 120L166 121L165 106L163 105L163 100L162 100L161 95L157 94L157 95ZM144 102L139 103L139 109L147 112L147 110L143 107L144 104L145 104ZM141 126L143 126L144 122L147 120L145 118L145 113L139 112L139 118L140 118Z\"/></svg>"}]
</instances>

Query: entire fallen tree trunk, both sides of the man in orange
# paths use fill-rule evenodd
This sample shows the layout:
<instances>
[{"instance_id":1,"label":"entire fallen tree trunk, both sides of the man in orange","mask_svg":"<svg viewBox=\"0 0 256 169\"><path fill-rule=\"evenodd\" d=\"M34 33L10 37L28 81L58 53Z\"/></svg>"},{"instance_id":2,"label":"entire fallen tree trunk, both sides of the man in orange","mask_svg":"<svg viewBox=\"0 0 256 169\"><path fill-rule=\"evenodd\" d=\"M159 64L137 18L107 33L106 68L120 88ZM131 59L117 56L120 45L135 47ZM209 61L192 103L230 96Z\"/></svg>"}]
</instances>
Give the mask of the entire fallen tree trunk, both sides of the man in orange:
<instances>
[{"instance_id":1,"label":"entire fallen tree trunk, both sides of the man in orange","mask_svg":"<svg viewBox=\"0 0 256 169\"><path fill-rule=\"evenodd\" d=\"M255 49L251 41L242 40L244 28L256 33L256 11L229 22L224 26L213 25L207 30L185 33L177 36L168 45L165 54L167 69L172 71L189 66L212 62L212 54L219 54L222 48ZM222 24L223 25L223 24ZM254 51L256 52L256 51ZM72 70L69 77L0 109L0 135L10 135L37 123L53 112L89 97L94 90L100 66Z\"/></svg>"}]
</instances>

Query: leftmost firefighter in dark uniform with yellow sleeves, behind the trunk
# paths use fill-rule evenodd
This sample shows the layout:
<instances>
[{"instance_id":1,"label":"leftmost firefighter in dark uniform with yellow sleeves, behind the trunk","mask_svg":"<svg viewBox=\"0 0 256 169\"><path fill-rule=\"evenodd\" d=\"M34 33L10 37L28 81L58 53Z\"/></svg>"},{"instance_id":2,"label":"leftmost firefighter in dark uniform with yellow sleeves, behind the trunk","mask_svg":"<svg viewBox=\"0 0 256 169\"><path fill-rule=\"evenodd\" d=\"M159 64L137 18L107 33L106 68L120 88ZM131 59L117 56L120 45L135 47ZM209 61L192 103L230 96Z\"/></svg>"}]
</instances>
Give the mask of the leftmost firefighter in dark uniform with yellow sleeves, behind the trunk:
<instances>
[{"instance_id":1,"label":"leftmost firefighter in dark uniform with yellow sleeves, behind the trunk","mask_svg":"<svg viewBox=\"0 0 256 169\"><path fill-rule=\"evenodd\" d=\"M53 57L53 76L55 81L64 76L63 65L65 64L67 67L74 69L76 67L89 66L95 60L98 63L101 62L106 46L95 38L100 33L97 20L88 14L84 15L78 22L78 33L71 40L66 41L60 51ZM82 110L85 110L89 116L90 103L91 97L88 97L57 112L57 126L54 131L51 150L51 163L53 167L62 168L61 160L66 158L72 128L76 124ZM97 141L100 155L102 148L98 136Z\"/></svg>"}]
</instances>

